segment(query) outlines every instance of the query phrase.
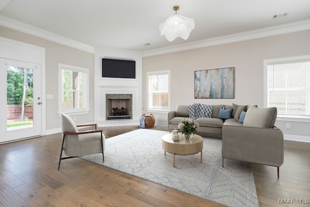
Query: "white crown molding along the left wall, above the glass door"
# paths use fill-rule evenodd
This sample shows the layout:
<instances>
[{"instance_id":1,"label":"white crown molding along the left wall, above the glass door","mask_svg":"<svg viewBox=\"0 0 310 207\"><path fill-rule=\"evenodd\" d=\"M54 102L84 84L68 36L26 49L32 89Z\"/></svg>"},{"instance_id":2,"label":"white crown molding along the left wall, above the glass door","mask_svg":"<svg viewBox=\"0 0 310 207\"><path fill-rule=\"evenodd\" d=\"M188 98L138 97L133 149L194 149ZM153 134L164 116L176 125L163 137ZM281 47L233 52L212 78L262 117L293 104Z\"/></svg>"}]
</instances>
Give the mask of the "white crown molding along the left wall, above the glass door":
<instances>
[{"instance_id":1,"label":"white crown molding along the left wall, above the glass door","mask_svg":"<svg viewBox=\"0 0 310 207\"><path fill-rule=\"evenodd\" d=\"M7 27L13 30L17 30L19 32L24 32L27 34L31 34L33 36L37 36L43 39L47 39L62 45L66 45L72 48L77 48L86 52L94 53L94 48L88 45L85 45L83 43L74 41L72 39L63 37L61 35L48 32L45 30L42 30L37 27L33 27L29 24L22 23L20 21L16 21L12 18L8 18L6 16L0 15L0 26Z\"/></svg>"}]
</instances>

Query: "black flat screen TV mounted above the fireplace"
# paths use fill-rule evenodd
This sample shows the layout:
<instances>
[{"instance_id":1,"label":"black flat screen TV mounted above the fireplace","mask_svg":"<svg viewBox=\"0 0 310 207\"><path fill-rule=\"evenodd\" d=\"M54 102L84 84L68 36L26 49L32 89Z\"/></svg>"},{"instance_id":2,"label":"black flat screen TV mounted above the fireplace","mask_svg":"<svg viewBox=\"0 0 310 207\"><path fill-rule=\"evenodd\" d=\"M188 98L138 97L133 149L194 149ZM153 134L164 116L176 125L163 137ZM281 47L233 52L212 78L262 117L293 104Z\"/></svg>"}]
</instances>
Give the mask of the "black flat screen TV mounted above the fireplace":
<instances>
[{"instance_id":1,"label":"black flat screen TV mounted above the fireplace","mask_svg":"<svg viewBox=\"0 0 310 207\"><path fill-rule=\"evenodd\" d=\"M102 58L102 77L135 79L136 61Z\"/></svg>"}]
</instances>

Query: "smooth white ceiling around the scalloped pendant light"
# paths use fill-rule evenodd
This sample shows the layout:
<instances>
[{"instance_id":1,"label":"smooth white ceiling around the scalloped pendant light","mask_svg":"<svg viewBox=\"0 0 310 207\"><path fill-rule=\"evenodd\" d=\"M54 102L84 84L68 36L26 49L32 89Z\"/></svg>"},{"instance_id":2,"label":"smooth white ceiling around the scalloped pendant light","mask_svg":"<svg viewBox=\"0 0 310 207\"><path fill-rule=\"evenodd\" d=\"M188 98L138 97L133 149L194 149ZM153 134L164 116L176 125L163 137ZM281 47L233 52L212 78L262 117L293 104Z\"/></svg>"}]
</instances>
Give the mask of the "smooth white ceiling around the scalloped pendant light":
<instances>
[{"instance_id":1,"label":"smooth white ceiling around the scalloped pendant light","mask_svg":"<svg viewBox=\"0 0 310 207\"><path fill-rule=\"evenodd\" d=\"M195 20L187 40L160 36L174 5ZM0 16L31 25L33 35L44 30L93 48L148 51L309 20L310 0L0 0Z\"/></svg>"}]
</instances>

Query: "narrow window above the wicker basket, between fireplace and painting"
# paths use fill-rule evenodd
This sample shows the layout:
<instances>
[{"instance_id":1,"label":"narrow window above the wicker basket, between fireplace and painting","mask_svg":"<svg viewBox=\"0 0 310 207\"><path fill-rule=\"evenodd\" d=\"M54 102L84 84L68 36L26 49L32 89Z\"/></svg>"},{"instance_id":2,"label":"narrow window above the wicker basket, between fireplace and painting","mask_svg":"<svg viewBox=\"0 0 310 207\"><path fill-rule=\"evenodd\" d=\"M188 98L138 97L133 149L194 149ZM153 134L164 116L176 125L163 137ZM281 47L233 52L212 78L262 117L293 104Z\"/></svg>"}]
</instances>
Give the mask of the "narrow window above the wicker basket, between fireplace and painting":
<instances>
[{"instance_id":1,"label":"narrow window above the wicker basket, between fireplace and painting","mask_svg":"<svg viewBox=\"0 0 310 207\"><path fill-rule=\"evenodd\" d=\"M170 70L147 73L148 110L170 110Z\"/></svg>"}]
</instances>

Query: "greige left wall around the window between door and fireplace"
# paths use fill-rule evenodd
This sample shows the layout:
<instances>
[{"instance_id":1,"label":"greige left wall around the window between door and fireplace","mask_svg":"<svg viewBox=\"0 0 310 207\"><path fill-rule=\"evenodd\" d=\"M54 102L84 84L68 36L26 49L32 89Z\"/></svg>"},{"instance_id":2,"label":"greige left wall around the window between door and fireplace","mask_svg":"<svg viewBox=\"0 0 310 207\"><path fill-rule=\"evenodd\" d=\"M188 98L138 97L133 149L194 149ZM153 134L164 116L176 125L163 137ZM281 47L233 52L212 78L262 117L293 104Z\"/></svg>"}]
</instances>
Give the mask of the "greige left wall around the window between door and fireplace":
<instances>
[{"instance_id":1,"label":"greige left wall around the window between door and fireplace","mask_svg":"<svg viewBox=\"0 0 310 207\"><path fill-rule=\"evenodd\" d=\"M32 36L16 30L0 26L0 36L13 40L29 43L46 48L46 94L53 95L53 99L47 99L46 103L46 130L51 132L61 127L61 119L58 115L58 64L69 64L90 69L90 113L75 115L77 124L91 123L94 121L94 95L93 95L93 68L94 55L79 49L71 48L46 39ZM57 130L55 130L57 131Z\"/></svg>"}]
</instances>

